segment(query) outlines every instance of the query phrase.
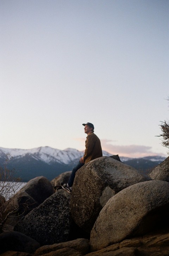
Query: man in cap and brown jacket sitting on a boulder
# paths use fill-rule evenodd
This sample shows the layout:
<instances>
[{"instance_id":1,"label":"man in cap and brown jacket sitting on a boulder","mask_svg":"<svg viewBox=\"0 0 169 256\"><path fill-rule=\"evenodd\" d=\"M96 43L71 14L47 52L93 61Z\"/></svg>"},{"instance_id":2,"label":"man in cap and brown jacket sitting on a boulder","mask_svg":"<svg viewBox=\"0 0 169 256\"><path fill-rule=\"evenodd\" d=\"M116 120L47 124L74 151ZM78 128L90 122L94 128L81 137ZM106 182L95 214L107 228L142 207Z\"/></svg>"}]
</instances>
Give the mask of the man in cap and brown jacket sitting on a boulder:
<instances>
[{"instance_id":1,"label":"man in cap and brown jacket sitting on a boulder","mask_svg":"<svg viewBox=\"0 0 169 256\"><path fill-rule=\"evenodd\" d=\"M92 123L83 123L82 125L84 126L84 133L87 134L84 155L80 158L76 167L73 168L68 183L61 183L61 187L68 193L71 193L76 171L89 161L102 156L101 143L98 136L94 134L94 125Z\"/></svg>"}]
</instances>

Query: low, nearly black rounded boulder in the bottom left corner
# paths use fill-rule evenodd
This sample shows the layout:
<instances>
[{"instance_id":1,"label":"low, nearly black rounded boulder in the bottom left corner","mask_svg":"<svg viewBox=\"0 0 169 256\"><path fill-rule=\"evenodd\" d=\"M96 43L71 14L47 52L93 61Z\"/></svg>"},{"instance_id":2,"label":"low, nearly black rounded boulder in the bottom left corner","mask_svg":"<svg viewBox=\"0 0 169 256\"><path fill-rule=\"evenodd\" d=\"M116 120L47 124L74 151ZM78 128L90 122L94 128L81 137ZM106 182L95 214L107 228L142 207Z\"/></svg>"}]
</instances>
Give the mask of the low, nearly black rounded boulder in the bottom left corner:
<instances>
[{"instance_id":1,"label":"low, nearly black rounded boulder in the bottom left corner","mask_svg":"<svg viewBox=\"0 0 169 256\"><path fill-rule=\"evenodd\" d=\"M20 251L33 253L40 244L20 232L4 232L0 234L0 254L6 251Z\"/></svg>"}]
</instances>

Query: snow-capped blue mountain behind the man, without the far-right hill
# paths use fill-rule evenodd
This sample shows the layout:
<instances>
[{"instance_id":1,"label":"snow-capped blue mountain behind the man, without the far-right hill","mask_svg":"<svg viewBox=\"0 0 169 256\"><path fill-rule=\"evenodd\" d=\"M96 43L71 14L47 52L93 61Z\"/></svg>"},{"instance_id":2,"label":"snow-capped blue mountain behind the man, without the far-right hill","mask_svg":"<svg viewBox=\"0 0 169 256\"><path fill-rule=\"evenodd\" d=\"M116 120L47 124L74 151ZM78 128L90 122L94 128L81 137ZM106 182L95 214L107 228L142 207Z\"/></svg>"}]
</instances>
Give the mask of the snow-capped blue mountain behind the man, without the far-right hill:
<instances>
[{"instance_id":1,"label":"snow-capped blue mountain behind the man, without the far-right hill","mask_svg":"<svg viewBox=\"0 0 169 256\"><path fill-rule=\"evenodd\" d=\"M3 167L7 157L8 169L15 169L22 181L29 181L37 176L54 179L64 171L70 171L83 156L84 151L76 149L58 150L51 147L38 147L35 149L5 149L0 147L0 166ZM104 156L111 156L103 151Z\"/></svg>"}]
</instances>

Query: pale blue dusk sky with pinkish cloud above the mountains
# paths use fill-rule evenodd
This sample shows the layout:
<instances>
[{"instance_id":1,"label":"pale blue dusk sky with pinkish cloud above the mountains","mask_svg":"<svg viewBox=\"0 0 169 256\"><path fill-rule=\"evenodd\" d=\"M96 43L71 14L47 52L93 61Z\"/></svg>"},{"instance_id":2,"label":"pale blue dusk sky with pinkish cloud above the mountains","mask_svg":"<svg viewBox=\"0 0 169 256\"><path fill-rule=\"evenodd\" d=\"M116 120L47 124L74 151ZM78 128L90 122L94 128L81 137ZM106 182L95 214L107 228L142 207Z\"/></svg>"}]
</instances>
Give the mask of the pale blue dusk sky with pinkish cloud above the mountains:
<instances>
[{"instance_id":1,"label":"pale blue dusk sky with pinkish cloud above the mountains","mask_svg":"<svg viewBox=\"0 0 169 256\"><path fill-rule=\"evenodd\" d=\"M169 1L0 0L0 147L167 157Z\"/></svg>"}]
</instances>

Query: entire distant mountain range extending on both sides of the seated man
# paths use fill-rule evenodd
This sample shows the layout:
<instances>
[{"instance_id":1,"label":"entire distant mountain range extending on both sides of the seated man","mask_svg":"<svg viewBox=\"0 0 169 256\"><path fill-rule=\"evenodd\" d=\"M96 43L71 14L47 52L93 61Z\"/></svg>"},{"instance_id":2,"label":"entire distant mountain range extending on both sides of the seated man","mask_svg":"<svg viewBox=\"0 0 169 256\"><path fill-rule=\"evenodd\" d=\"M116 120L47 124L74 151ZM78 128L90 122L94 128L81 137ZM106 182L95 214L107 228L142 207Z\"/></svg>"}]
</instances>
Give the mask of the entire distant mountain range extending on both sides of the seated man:
<instances>
[{"instance_id":1,"label":"entire distant mountain range extending on both sides of the seated man","mask_svg":"<svg viewBox=\"0 0 169 256\"><path fill-rule=\"evenodd\" d=\"M54 179L64 171L70 171L83 156L82 151L76 149L58 150L51 147L38 147L30 150L5 149L0 147L0 166L4 167L6 154L12 157L7 168L15 169L15 176L27 182L37 176L45 176L49 180ZM104 156L112 154L103 151ZM119 156L120 157L120 156ZM161 156L148 156L143 158L120 157L125 164L147 173L150 169L165 160Z\"/></svg>"}]
</instances>

